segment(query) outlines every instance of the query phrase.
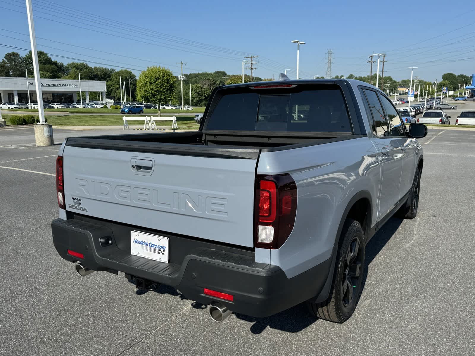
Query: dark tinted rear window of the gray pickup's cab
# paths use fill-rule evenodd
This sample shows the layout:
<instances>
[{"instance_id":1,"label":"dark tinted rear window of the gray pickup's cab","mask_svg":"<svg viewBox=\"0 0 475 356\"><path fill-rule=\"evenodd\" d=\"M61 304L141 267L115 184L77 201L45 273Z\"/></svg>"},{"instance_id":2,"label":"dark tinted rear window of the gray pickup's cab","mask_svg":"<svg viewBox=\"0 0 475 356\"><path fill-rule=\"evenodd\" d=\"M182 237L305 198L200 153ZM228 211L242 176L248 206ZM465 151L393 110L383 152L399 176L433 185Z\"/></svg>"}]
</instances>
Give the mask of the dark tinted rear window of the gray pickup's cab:
<instances>
[{"instance_id":1,"label":"dark tinted rear window of the gray pickup's cab","mask_svg":"<svg viewBox=\"0 0 475 356\"><path fill-rule=\"evenodd\" d=\"M352 133L337 85L230 88L218 92L213 101L207 130Z\"/></svg>"}]
</instances>

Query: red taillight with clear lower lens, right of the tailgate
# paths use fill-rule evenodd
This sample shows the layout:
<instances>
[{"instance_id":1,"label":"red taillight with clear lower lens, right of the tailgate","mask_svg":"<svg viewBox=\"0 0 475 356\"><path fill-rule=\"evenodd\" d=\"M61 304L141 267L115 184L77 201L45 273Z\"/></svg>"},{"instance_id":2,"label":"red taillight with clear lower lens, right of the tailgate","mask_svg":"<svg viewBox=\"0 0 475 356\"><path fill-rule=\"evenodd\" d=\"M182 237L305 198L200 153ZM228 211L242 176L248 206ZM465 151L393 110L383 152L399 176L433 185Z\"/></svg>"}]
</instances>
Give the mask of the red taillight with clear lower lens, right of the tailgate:
<instances>
[{"instance_id":1,"label":"red taillight with clear lower lens, right of the tailgate","mask_svg":"<svg viewBox=\"0 0 475 356\"><path fill-rule=\"evenodd\" d=\"M289 174L257 176L254 246L276 249L289 237L297 212L297 186Z\"/></svg>"}]
</instances>

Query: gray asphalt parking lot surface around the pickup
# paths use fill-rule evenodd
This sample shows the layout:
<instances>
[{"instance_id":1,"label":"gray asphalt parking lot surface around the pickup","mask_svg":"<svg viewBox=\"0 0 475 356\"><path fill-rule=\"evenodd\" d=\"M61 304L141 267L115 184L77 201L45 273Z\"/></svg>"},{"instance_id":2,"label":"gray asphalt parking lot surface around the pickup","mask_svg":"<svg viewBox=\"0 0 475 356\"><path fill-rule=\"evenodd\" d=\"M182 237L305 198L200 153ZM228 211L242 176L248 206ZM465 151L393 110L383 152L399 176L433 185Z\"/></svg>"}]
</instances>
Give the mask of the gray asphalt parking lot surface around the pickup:
<instances>
[{"instance_id":1,"label":"gray asphalt parking lot surface around the pickup","mask_svg":"<svg viewBox=\"0 0 475 356\"><path fill-rule=\"evenodd\" d=\"M104 132L55 129L57 145L38 148L31 127L0 130L0 355L474 355L475 131L429 128L420 140L418 217L373 237L344 324L302 305L218 324L172 288L77 276L51 239L55 159L65 137L91 134Z\"/></svg>"}]
</instances>

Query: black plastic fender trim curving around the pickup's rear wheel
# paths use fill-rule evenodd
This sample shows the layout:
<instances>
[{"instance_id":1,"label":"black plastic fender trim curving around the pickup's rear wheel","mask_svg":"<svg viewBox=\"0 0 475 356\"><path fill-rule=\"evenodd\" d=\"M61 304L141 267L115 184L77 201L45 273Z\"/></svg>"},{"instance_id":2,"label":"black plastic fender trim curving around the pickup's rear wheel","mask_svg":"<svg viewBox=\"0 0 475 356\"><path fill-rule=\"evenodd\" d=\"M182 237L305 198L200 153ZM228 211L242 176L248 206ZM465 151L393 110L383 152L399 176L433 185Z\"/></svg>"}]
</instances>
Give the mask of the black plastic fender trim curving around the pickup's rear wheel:
<instances>
[{"instance_id":1,"label":"black plastic fender trim curving around the pickup's rear wheel","mask_svg":"<svg viewBox=\"0 0 475 356\"><path fill-rule=\"evenodd\" d=\"M365 241L369 241L372 234L375 233L375 231L373 229L371 229L372 206L373 206L373 202L372 202L372 199L371 199L371 194L368 190L361 190L360 192L356 193L350 199L350 201L348 202L348 204L345 208L345 211L343 212L342 220L340 221L340 225L338 225L338 230L337 230L337 233L336 233L336 236L335 236L335 243L333 244L332 257L331 257L332 263L330 265L330 271L328 272L328 276L327 276L327 279L325 281L325 284L323 286L322 291L313 300L313 302L315 302L315 303L321 303L321 302L327 300L328 296L330 295L330 291L333 288L333 275L334 275L334 271L335 271L336 255L337 255L337 252L338 252L338 244L340 242L340 235L342 234L343 225L346 221L346 218L347 218L348 213L350 212L352 206L354 205L354 203L356 203L361 198L366 198L370 201L370 215L368 216L369 223L366 224L366 231L364 231ZM371 234L371 236L370 236L370 234Z\"/></svg>"}]
</instances>

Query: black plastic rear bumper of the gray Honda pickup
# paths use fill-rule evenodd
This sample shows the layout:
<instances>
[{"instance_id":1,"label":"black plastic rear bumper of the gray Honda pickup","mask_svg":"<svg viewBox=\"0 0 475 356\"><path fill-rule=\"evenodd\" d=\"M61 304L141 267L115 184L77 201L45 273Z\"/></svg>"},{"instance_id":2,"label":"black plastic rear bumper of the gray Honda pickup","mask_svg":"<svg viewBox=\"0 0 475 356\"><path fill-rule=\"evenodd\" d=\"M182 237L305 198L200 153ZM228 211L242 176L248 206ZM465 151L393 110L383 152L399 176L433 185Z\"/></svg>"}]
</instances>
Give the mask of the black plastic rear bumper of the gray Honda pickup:
<instances>
[{"instance_id":1,"label":"black plastic rear bumper of the gray Honda pickup","mask_svg":"<svg viewBox=\"0 0 475 356\"><path fill-rule=\"evenodd\" d=\"M57 219L51 229L56 250L67 261L170 285L190 300L219 301L234 312L254 317L273 315L317 296L330 271L331 259L289 279L279 267L255 262L252 251L141 229L169 237L170 263L156 262L130 254L130 231L136 227ZM101 246L100 238L107 236L112 244ZM71 256L67 250L84 258ZM204 295L204 288L231 294L233 301Z\"/></svg>"}]
</instances>

